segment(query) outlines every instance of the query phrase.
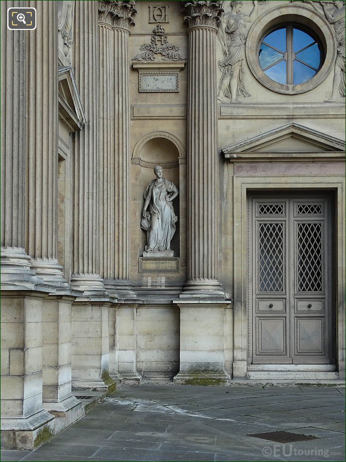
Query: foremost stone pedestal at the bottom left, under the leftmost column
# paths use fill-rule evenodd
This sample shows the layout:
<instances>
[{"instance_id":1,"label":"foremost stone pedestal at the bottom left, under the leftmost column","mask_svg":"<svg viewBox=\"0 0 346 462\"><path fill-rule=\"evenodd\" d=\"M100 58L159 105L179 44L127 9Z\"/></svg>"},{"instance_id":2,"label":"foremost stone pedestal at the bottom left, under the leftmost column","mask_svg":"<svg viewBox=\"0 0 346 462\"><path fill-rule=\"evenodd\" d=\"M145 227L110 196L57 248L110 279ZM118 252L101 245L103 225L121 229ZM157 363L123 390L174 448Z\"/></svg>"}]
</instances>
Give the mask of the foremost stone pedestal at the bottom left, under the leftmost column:
<instances>
[{"instance_id":1,"label":"foremost stone pedestal at the bottom left, under the leftmost column","mask_svg":"<svg viewBox=\"0 0 346 462\"><path fill-rule=\"evenodd\" d=\"M1 448L33 450L55 432L42 405L42 303L46 294L1 299Z\"/></svg>"}]
</instances>

